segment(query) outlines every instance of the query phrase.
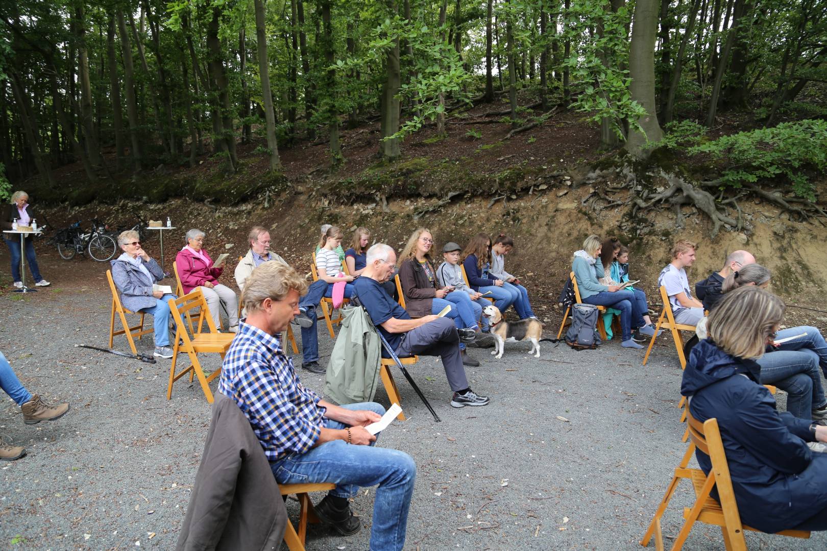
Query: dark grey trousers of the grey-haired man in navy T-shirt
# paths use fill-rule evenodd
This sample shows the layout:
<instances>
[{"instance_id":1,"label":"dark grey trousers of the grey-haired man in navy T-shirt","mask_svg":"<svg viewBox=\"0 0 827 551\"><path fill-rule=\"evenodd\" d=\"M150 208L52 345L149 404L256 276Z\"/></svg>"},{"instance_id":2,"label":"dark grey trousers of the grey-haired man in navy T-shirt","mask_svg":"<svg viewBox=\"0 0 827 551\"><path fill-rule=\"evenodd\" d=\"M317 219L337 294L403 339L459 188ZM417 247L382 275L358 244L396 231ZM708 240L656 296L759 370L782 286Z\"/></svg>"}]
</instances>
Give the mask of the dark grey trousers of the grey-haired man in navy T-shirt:
<instances>
[{"instance_id":1,"label":"dark grey trousers of the grey-haired man in navy T-shirt","mask_svg":"<svg viewBox=\"0 0 827 551\"><path fill-rule=\"evenodd\" d=\"M402 337L396 354L440 356L451 390L457 392L468 388L468 379L460 354L460 335L457 333L457 325L447 317L429 321L414 330L409 330Z\"/></svg>"}]
</instances>

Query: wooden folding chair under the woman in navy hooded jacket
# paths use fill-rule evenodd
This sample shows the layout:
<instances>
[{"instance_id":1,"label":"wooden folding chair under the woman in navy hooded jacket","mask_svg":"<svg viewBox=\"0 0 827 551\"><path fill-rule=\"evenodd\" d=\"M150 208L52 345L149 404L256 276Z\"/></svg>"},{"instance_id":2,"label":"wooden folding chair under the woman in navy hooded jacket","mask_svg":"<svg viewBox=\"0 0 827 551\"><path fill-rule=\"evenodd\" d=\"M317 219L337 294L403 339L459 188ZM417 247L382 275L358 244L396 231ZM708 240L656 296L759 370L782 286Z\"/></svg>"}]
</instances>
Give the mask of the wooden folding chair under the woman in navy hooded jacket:
<instances>
[{"instance_id":1,"label":"wooden folding chair under the woman in navy hooded jacket","mask_svg":"<svg viewBox=\"0 0 827 551\"><path fill-rule=\"evenodd\" d=\"M681 463L675 469L672 482L667 487L666 495L663 496L660 505L657 507L652 522L649 524L646 534L643 534L640 544L647 547L649 539L652 539L654 535L655 548L658 551L663 549L661 517L675 493L678 482L681 481L681 478L688 478L695 489L696 499L691 508L684 508L683 517L686 521L681 528L681 532L677 535L675 543L672 544L672 551L678 551L683 547L692 526L696 522L719 526L721 534L724 535L724 545L728 551L746 551L747 543L743 539L743 530L753 532L759 532L760 530L741 524L741 516L738 511L738 503L735 501L732 479L729 477L729 465L724 452L724 443L721 441L718 420L712 418L701 423L692 416L688 407L685 408L685 411L691 443L687 447ZM696 448L710 456L712 470L710 470L709 475L704 474L700 468L687 467ZM710 496L713 487L718 489L720 503ZM777 534L793 538L810 537L810 532L803 530L783 530L777 532Z\"/></svg>"}]
</instances>

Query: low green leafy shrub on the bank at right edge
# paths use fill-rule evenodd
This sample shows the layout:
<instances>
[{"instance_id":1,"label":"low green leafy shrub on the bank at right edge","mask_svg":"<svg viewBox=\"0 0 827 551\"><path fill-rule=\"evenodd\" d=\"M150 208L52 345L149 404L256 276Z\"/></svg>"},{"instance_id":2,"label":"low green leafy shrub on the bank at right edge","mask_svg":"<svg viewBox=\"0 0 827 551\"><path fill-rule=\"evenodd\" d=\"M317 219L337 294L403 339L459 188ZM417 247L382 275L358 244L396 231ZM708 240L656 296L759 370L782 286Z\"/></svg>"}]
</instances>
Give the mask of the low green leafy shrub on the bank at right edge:
<instances>
[{"instance_id":1,"label":"low green leafy shrub on the bank at right edge","mask_svg":"<svg viewBox=\"0 0 827 551\"><path fill-rule=\"evenodd\" d=\"M763 178L786 178L797 196L815 201L815 188L805 171L827 169L827 121L784 122L724 135L691 147L689 153L724 160L725 185L739 188Z\"/></svg>"}]
</instances>

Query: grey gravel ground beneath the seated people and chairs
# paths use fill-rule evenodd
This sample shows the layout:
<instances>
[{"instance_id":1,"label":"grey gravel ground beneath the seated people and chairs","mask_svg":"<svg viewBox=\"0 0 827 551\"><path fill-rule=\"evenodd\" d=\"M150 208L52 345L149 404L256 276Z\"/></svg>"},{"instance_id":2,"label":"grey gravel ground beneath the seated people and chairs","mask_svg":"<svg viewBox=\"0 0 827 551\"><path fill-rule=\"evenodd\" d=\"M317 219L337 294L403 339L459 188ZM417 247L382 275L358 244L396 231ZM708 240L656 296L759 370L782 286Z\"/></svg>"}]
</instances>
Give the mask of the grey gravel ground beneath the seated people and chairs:
<instances>
[{"instance_id":1,"label":"grey gravel ground beneath the seated people and chairs","mask_svg":"<svg viewBox=\"0 0 827 551\"><path fill-rule=\"evenodd\" d=\"M41 267L59 262L41 257ZM0 296L7 320L0 350L31 392L72 405L60 420L24 425L3 397L0 432L28 455L0 466L0 549L173 549L209 405L186 379L166 400L170 360L151 365L74 348L106 345L110 305L105 266L74 266L68 283L52 278L52 287L33 295ZM323 332L319 342L326 362L332 340ZM115 347L128 350L123 337ZM151 342L139 348L151 353ZM528 356L525 344L509 344L500 360L488 350L471 354L482 360L469 370L471 385L491 397L490 406L453 409L438 361L411 370L441 423L398 378L408 420L385 430L380 445L408 452L418 466L406 549L639 549L686 449L672 340L661 337L645 367L643 351L617 342L579 353L543 343L541 359ZM218 356L203 363L218 367ZM303 382L321 390L323 378L308 375ZM376 400L387 406L384 391ZM663 520L667 535L679 530L691 495L681 482ZM339 538L312 525L307 549L367 549L373 501L368 489L354 502L365 530ZM289 501L288 509L295 518L298 505ZM752 549L827 547L824 534L787 543L750 533L747 540ZM704 525L686 544L723 548L719 530Z\"/></svg>"}]
</instances>

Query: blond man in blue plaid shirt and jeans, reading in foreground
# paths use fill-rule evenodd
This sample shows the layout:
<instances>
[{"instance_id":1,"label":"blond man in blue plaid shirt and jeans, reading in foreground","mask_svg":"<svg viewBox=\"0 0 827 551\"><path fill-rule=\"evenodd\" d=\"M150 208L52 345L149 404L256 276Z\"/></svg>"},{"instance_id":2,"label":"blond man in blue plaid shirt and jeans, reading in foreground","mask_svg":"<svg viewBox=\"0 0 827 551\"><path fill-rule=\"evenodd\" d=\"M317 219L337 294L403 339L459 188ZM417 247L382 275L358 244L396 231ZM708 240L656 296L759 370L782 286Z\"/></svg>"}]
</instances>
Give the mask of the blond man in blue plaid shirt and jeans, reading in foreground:
<instances>
[{"instance_id":1,"label":"blond man in blue plaid shirt and jeans, reading in foreground","mask_svg":"<svg viewBox=\"0 0 827 551\"><path fill-rule=\"evenodd\" d=\"M281 484L333 482L337 487L315 507L342 535L361 524L348 499L359 487L376 489L370 549L403 549L414 459L375 448L366 429L385 408L373 402L336 406L305 388L275 335L299 314L307 283L293 268L265 262L247 279L241 302L247 312L222 364L218 392L236 401ZM277 499L278 496L274 496Z\"/></svg>"}]
</instances>

